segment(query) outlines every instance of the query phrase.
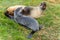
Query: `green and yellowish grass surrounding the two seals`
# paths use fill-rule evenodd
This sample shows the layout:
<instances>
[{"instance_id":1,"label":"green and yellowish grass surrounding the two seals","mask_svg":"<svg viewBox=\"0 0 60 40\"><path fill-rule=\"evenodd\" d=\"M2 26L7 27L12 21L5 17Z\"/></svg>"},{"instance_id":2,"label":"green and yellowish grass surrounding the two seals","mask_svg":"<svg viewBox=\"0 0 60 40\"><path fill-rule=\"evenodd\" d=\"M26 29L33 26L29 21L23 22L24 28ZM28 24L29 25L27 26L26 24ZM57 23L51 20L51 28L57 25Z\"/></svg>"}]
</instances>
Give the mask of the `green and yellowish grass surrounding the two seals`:
<instances>
[{"instance_id":1,"label":"green and yellowish grass surrounding the two seals","mask_svg":"<svg viewBox=\"0 0 60 40\"><path fill-rule=\"evenodd\" d=\"M60 4L47 2L47 9L38 22L44 26L41 31L27 39L31 30L18 25L4 16L4 11L12 5L36 6L44 0L0 0L0 40L60 40Z\"/></svg>"}]
</instances>

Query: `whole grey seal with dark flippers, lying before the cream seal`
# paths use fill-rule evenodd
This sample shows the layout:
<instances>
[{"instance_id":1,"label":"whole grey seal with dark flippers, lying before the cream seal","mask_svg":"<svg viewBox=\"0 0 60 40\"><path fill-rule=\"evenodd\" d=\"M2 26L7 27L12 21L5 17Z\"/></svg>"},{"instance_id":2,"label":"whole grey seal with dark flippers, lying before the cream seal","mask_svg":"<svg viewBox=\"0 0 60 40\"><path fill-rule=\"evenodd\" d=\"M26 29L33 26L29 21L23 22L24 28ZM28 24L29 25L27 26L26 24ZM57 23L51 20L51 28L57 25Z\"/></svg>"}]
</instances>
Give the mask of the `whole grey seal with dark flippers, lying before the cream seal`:
<instances>
[{"instance_id":1,"label":"whole grey seal with dark flippers, lying before the cream seal","mask_svg":"<svg viewBox=\"0 0 60 40\"><path fill-rule=\"evenodd\" d=\"M14 20L16 23L22 24L26 28L31 29L32 32L28 35L28 38L32 38L33 34L36 31L41 30L41 28L42 28L42 26L40 26L39 23L37 22L37 20L35 20L34 18L32 18L30 16L22 15L21 8L17 8L14 11L14 16L10 16L7 14L5 14L5 15L7 17L9 17L10 19Z\"/></svg>"}]
</instances>

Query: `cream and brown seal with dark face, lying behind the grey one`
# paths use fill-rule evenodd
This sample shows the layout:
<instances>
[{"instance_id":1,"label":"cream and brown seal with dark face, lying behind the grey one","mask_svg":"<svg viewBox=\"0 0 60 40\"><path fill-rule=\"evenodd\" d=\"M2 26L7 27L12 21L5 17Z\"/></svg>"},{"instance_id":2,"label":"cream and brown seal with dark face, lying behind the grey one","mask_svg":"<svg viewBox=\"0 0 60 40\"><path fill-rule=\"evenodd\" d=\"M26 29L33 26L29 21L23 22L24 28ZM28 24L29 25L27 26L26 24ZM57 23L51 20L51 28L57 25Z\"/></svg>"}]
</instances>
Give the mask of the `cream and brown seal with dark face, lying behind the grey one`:
<instances>
[{"instance_id":1,"label":"cream and brown seal with dark face, lying behind the grey one","mask_svg":"<svg viewBox=\"0 0 60 40\"><path fill-rule=\"evenodd\" d=\"M21 10L23 12L23 15L26 16L31 16L33 18L39 18L44 10L46 9L46 2L42 2L39 6L33 7L33 6L24 6L24 5L15 5L8 7L7 10L5 11L5 14L14 16L14 10L17 8L21 7Z\"/></svg>"}]
</instances>

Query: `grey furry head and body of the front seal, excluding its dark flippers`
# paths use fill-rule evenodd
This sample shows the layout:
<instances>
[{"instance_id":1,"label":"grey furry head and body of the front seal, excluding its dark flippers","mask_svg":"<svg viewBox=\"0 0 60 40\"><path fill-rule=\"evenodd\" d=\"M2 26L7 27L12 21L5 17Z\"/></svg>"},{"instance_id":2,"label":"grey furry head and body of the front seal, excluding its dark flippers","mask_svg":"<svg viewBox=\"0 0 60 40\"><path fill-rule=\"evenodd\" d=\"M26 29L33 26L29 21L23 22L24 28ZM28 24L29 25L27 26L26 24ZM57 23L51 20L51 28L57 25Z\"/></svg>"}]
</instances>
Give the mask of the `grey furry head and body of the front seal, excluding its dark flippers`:
<instances>
[{"instance_id":1,"label":"grey furry head and body of the front seal, excluding its dark flippers","mask_svg":"<svg viewBox=\"0 0 60 40\"><path fill-rule=\"evenodd\" d=\"M30 16L24 16L20 13L20 8L17 8L14 11L14 20L22 25L25 25L26 27L32 29L33 31L37 31L39 30L39 23L37 22L37 20L35 20L34 18L30 17ZM18 11L19 10L19 11Z\"/></svg>"}]
</instances>

